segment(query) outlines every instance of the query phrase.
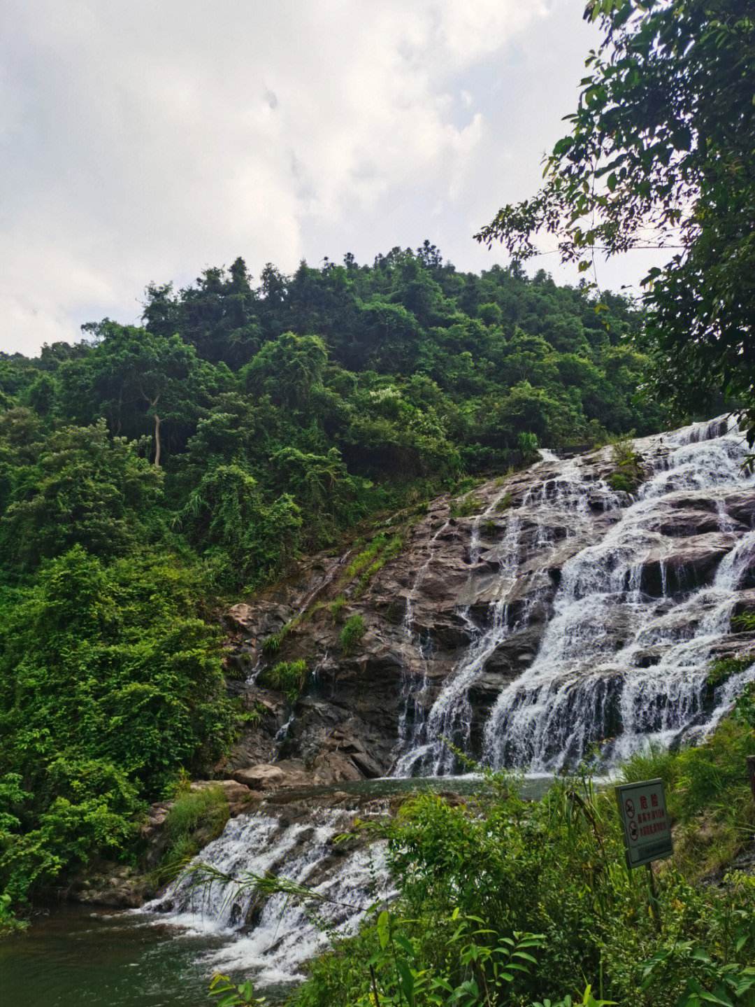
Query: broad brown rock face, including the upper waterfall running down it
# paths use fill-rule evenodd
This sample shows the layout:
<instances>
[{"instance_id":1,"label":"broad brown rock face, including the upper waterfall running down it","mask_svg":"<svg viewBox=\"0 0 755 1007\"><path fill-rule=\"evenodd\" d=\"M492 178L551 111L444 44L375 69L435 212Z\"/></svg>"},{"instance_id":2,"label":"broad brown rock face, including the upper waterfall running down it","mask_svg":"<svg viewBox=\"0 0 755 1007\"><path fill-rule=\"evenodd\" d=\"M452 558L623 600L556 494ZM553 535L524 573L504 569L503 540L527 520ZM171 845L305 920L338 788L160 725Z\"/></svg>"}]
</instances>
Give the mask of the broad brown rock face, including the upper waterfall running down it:
<instances>
[{"instance_id":1,"label":"broad brown rock face, including the upper waterfall running down it","mask_svg":"<svg viewBox=\"0 0 755 1007\"><path fill-rule=\"evenodd\" d=\"M264 790L446 773L444 739L493 766L557 769L595 745L610 761L705 730L754 677L706 683L711 660L753 650L731 617L755 610L755 480L725 420L635 450L636 496L606 481L610 448L543 452L396 516L374 533L403 540L383 566L379 542L361 568L358 550L315 556L234 605L228 671L256 722L218 774ZM291 703L258 677L294 660L309 675Z\"/></svg>"}]
</instances>

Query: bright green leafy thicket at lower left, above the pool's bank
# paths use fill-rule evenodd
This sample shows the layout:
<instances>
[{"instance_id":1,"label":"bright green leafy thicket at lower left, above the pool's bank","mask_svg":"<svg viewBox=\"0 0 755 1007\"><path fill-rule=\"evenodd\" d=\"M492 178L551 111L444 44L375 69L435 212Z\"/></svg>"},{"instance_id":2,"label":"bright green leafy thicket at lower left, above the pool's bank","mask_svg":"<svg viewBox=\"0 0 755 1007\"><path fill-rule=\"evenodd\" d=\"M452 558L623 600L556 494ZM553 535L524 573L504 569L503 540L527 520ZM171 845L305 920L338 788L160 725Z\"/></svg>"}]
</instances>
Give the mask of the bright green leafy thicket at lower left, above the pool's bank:
<instances>
[{"instance_id":1,"label":"bright green leafy thicket at lower left, above the pool's bank","mask_svg":"<svg viewBox=\"0 0 755 1007\"><path fill-rule=\"evenodd\" d=\"M107 566L75 546L5 604L0 773L28 792L0 853L14 899L96 852L117 855L144 800L224 750L232 709L198 593L174 556Z\"/></svg>"}]
</instances>

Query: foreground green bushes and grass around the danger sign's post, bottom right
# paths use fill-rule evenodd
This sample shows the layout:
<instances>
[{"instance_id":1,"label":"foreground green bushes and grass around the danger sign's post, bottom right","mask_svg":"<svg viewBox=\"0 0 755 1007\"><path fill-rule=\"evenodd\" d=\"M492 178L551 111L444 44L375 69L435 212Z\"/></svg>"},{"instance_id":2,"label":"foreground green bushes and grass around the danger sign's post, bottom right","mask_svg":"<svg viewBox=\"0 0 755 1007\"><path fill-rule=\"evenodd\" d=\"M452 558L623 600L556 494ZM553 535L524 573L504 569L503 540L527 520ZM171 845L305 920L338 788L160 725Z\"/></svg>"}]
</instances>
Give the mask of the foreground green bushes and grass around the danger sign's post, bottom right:
<instances>
[{"instance_id":1,"label":"foreground green bushes and grass around the danger sign's post, bottom right","mask_svg":"<svg viewBox=\"0 0 755 1007\"><path fill-rule=\"evenodd\" d=\"M729 740L719 743L721 755ZM680 781L671 798L685 814L693 814L685 788L700 771L698 751L663 756L667 778ZM659 760L650 752L628 774ZM624 866L612 788L562 779L542 801L527 802L515 778L489 773L488 782L468 804L425 794L395 819L363 826L387 839L398 898L313 963L296 1007L750 1002L751 878L696 887L667 863L658 934L644 872Z\"/></svg>"}]
</instances>

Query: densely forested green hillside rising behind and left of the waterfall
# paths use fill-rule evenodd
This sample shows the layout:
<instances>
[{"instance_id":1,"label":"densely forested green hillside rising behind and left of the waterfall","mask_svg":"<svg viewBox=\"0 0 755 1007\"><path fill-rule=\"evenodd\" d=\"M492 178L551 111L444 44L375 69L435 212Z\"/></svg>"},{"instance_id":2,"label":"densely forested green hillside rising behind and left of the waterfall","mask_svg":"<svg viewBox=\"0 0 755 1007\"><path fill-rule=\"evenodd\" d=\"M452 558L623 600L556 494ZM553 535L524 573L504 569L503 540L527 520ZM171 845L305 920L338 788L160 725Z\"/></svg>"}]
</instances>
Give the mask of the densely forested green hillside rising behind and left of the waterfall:
<instances>
[{"instance_id":1,"label":"densely forested green hillside rising behind and left of the waterfall","mask_svg":"<svg viewBox=\"0 0 755 1007\"><path fill-rule=\"evenodd\" d=\"M658 428L639 316L425 243L292 277L243 260L151 285L0 356L0 872L16 900L233 736L213 598L360 520L536 448ZM21 838L23 837L23 838Z\"/></svg>"}]
</instances>

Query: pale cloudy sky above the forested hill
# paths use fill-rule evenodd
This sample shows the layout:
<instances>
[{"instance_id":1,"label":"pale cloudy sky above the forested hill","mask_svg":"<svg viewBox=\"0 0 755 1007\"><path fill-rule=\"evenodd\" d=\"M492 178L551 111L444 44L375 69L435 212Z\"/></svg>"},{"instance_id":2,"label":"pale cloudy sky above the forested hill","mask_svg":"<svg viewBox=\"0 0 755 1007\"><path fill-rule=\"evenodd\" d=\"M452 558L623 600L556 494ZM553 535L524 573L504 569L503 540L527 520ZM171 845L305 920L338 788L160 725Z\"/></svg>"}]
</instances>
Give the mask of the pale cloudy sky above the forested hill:
<instances>
[{"instance_id":1,"label":"pale cloudy sky above the forested hill","mask_svg":"<svg viewBox=\"0 0 755 1007\"><path fill-rule=\"evenodd\" d=\"M258 276L427 238L457 269L505 264L473 235L566 132L597 41L582 7L3 0L0 349L138 323L149 282L239 255ZM632 256L601 287L636 285Z\"/></svg>"}]
</instances>

